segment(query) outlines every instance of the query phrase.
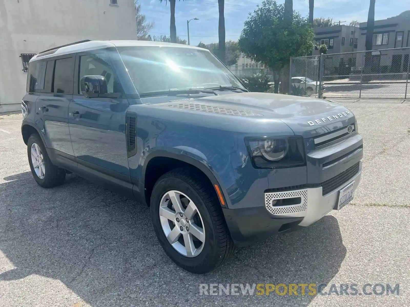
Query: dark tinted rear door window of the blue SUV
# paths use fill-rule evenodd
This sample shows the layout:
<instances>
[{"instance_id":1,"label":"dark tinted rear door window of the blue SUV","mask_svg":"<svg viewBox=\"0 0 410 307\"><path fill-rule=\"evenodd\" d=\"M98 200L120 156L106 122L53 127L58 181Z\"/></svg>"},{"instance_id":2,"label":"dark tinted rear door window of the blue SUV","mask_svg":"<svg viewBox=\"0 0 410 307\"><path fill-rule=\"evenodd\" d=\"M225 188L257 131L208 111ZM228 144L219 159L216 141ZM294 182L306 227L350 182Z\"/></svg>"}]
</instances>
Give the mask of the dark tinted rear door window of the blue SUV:
<instances>
[{"instance_id":1,"label":"dark tinted rear door window of the blue SUV","mask_svg":"<svg viewBox=\"0 0 410 307\"><path fill-rule=\"evenodd\" d=\"M72 94L74 80L74 58L55 61L53 93Z\"/></svg>"}]
</instances>

